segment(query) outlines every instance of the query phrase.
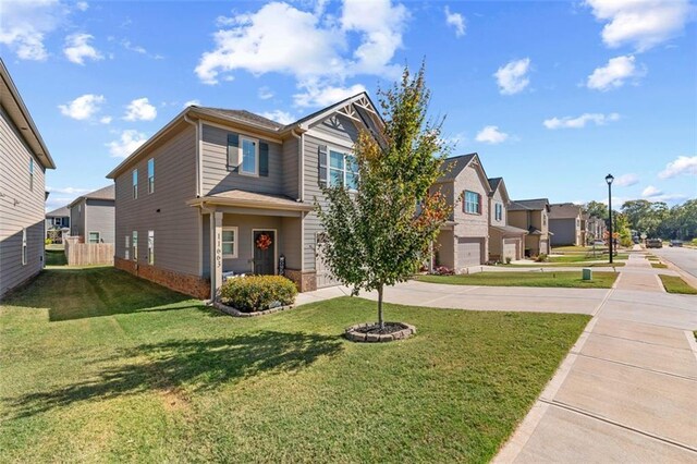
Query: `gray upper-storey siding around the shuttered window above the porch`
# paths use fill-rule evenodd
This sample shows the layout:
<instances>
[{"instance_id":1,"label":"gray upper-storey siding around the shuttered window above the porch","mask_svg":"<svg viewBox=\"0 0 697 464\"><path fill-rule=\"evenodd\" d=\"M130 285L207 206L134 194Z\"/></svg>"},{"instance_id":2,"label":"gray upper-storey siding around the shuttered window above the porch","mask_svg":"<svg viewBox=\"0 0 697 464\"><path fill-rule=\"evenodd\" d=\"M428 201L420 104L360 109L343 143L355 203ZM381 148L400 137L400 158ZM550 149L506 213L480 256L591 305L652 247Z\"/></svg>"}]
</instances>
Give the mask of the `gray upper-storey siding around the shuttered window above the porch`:
<instances>
[{"instance_id":1,"label":"gray upper-storey siding around the shuttered window above the porch","mask_svg":"<svg viewBox=\"0 0 697 464\"><path fill-rule=\"evenodd\" d=\"M269 145L269 175L253 176L228 171L228 134L236 133L208 124L203 125L203 192L210 195L230 190L268 194L284 194L282 146L259 138ZM244 135L246 136L246 135ZM255 137L250 137L255 138Z\"/></svg>"}]
</instances>

